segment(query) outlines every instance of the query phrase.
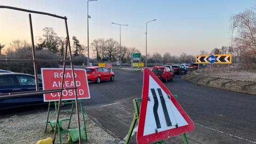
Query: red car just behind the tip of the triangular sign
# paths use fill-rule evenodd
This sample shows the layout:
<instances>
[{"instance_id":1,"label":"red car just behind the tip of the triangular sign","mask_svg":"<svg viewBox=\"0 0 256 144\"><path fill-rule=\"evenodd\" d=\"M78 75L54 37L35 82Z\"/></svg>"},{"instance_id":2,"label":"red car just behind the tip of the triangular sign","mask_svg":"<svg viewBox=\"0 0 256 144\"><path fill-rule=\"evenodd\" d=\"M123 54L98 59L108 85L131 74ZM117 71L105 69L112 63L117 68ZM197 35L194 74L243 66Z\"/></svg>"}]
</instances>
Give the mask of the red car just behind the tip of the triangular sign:
<instances>
[{"instance_id":1,"label":"red car just behind the tip of the triangular sign","mask_svg":"<svg viewBox=\"0 0 256 144\"><path fill-rule=\"evenodd\" d=\"M155 66L152 69L153 73L162 81L168 82L172 81L173 74L171 72L171 69L165 66Z\"/></svg>"}]
</instances>

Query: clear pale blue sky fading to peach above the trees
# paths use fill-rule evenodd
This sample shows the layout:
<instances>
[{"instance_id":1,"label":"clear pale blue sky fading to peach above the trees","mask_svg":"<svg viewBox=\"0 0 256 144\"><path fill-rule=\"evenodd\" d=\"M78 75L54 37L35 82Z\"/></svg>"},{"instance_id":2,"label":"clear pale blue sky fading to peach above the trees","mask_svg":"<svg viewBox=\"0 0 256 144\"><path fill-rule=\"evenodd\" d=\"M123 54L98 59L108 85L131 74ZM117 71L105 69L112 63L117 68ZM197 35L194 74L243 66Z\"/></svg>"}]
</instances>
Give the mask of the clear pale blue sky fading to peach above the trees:
<instances>
[{"instance_id":1,"label":"clear pale blue sky fading to peach above the trees","mask_svg":"<svg viewBox=\"0 0 256 144\"><path fill-rule=\"evenodd\" d=\"M121 44L136 47L145 54L146 22L148 23L147 48L154 52L182 52L197 55L204 50L231 44L230 17L251 9L254 0L98 0L89 2L90 43L97 38L114 38ZM53 13L68 18L69 35L76 36L87 45L87 1L82 0L0 0L0 5L20 7ZM42 36L43 28L53 27L58 36L66 36L62 19L47 15L31 14L34 38ZM0 43L9 44L14 39L26 39L29 43L30 29L27 12L0 9ZM234 33L235 36L235 33ZM35 40L36 41L36 40ZM37 37L38 41L38 37Z\"/></svg>"}]
</instances>

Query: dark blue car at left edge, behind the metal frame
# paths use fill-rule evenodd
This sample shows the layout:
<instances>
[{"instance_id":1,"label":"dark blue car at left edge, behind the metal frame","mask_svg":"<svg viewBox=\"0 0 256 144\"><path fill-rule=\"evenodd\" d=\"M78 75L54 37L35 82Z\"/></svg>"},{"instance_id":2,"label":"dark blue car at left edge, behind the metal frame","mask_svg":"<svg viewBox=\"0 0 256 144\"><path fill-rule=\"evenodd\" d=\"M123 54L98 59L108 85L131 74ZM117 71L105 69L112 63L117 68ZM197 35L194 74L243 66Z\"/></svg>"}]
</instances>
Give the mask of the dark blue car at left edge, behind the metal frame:
<instances>
[{"instance_id":1,"label":"dark blue car at left edge, behind the metal frame","mask_svg":"<svg viewBox=\"0 0 256 144\"><path fill-rule=\"evenodd\" d=\"M42 90L42 81L38 79L39 90ZM35 91L35 77L20 73L0 73L0 94ZM1 96L0 96L1 97ZM43 103L43 94L21 96L16 98L0 99L0 109L21 106L38 105Z\"/></svg>"}]
</instances>

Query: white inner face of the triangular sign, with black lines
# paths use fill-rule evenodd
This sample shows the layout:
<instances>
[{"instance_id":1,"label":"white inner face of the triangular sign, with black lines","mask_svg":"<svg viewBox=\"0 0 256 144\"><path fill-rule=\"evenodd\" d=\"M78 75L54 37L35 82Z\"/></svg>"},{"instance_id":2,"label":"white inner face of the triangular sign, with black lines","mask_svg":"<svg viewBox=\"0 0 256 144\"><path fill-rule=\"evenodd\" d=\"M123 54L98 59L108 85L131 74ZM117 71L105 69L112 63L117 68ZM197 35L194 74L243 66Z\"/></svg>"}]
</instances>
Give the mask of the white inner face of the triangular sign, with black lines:
<instances>
[{"instance_id":1,"label":"white inner face of the triangular sign, with black lines","mask_svg":"<svg viewBox=\"0 0 256 144\"><path fill-rule=\"evenodd\" d=\"M143 135L188 125L185 118L156 81L149 75L148 104Z\"/></svg>"}]
</instances>

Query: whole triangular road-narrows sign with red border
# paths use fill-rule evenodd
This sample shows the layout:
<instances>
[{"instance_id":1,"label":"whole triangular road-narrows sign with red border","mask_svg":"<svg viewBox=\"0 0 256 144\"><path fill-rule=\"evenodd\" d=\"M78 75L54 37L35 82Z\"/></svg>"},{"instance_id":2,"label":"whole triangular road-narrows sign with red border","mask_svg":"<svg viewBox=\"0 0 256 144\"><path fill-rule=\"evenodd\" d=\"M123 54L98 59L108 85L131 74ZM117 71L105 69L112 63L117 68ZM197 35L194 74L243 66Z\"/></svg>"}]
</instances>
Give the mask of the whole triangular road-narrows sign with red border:
<instances>
[{"instance_id":1,"label":"whole triangular road-narrows sign with red border","mask_svg":"<svg viewBox=\"0 0 256 144\"><path fill-rule=\"evenodd\" d=\"M144 69L138 143L151 143L193 131L195 125L167 87Z\"/></svg>"}]
</instances>

